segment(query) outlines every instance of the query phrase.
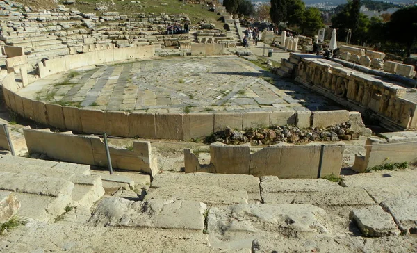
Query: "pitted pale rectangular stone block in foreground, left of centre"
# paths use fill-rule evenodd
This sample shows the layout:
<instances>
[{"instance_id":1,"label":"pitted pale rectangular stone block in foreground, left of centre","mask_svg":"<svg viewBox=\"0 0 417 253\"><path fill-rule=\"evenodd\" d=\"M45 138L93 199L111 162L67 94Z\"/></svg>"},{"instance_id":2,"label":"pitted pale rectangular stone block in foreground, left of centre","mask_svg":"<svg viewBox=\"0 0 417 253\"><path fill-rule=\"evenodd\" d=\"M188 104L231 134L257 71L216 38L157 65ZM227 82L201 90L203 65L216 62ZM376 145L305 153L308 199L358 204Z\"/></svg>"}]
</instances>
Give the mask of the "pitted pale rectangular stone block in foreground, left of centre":
<instances>
[{"instance_id":1,"label":"pitted pale rectangular stone block in foreground, left of centre","mask_svg":"<svg viewBox=\"0 0 417 253\"><path fill-rule=\"evenodd\" d=\"M133 202L118 197L103 199L90 222L114 227L150 227L163 229L204 229L206 204L186 200L149 199Z\"/></svg>"}]
</instances>

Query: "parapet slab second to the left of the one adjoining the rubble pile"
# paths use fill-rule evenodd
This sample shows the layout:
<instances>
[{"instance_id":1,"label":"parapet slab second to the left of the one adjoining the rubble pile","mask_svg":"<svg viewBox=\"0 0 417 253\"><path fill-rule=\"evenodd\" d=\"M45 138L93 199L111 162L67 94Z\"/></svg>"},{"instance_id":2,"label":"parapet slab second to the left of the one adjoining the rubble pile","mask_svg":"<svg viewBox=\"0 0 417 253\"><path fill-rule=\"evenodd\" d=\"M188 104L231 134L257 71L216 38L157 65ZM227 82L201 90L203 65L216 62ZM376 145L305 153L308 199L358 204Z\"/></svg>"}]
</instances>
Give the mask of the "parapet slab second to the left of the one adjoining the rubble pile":
<instances>
[{"instance_id":1,"label":"parapet slab second to the left of the one adjoining the rubble pile","mask_svg":"<svg viewBox=\"0 0 417 253\"><path fill-rule=\"evenodd\" d=\"M129 114L129 136L139 138L155 138L155 115L153 113Z\"/></svg>"}]
</instances>

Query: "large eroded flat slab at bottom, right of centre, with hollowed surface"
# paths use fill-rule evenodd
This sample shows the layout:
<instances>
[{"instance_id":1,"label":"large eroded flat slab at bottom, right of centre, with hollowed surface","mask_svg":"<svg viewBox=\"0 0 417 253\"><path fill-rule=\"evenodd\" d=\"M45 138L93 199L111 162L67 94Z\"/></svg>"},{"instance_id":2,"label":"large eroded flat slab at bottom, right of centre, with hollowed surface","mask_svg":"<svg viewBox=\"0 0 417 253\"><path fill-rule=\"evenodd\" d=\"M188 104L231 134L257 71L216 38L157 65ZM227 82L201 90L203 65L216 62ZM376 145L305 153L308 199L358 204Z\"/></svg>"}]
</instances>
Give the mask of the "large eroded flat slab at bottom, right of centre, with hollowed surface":
<instances>
[{"instance_id":1,"label":"large eroded flat slab at bottom, right of centre, with hollowed surface","mask_svg":"<svg viewBox=\"0 0 417 253\"><path fill-rule=\"evenodd\" d=\"M213 247L250 248L265 234L328 234L326 217L326 211L309 204L237 204L209 209L207 228Z\"/></svg>"}]
</instances>

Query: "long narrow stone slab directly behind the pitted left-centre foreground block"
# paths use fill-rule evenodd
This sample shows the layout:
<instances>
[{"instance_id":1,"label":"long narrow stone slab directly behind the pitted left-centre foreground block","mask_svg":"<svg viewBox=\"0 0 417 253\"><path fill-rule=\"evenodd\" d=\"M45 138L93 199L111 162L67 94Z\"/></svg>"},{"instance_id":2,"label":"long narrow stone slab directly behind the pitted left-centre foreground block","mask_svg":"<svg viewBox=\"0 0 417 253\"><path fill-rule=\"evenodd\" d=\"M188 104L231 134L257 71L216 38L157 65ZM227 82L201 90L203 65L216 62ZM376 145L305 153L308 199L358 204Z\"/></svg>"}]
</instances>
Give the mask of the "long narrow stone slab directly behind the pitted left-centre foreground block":
<instances>
[{"instance_id":1,"label":"long narrow stone slab directly behind the pitted left-centre foreground block","mask_svg":"<svg viewBox=\"0 0 417 253\"><path fill-rule=\"evenodd\" d=\"M149 199L177 199L200 201L210 205L247 203L245 190L228 190L219 186L202 186L171 183L160 188L150 188L145 196Z\"/></svg>"}]
</instances>

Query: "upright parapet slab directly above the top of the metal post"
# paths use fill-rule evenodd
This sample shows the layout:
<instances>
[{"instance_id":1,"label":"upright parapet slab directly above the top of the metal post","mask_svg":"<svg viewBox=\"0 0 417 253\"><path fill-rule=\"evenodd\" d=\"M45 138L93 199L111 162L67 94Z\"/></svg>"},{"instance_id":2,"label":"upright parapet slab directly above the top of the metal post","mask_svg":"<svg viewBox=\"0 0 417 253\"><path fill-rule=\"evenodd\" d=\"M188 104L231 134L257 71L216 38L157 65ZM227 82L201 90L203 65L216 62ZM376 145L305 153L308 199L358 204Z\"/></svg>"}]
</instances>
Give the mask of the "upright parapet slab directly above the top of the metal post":
<instances>
[{"instance_id":1,"label":"upright parapet slab directly above the top of the metal post","mask_svg":"<svg viewBox=\"0 0 417 253\"><path fill-rule=\"evenodd\" d=\"M129 113L121 111L104 112L106 133L111 136L129 137Z\"/></svg>"}]
</instances>

